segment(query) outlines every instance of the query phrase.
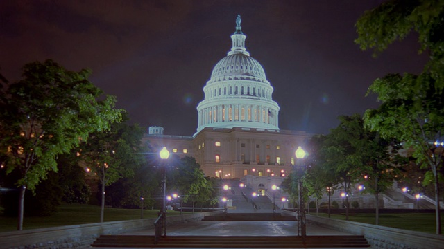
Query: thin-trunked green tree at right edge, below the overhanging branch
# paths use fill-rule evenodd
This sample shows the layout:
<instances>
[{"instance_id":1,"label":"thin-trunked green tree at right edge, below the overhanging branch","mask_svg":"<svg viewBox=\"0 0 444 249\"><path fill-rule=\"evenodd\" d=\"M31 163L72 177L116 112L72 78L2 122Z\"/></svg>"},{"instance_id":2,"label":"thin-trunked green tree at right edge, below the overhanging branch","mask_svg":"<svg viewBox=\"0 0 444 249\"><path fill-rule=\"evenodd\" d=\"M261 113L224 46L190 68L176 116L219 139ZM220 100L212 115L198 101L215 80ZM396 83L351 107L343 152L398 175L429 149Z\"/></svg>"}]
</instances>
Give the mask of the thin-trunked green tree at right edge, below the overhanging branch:
<instances>
[{"instance_id":1,"label":"thin-trunked green tree at right edge, below the overhanging branch","mask_svg":"<svg viewBox=\"0 0 444 249\"><path fill-rule=\"evenodd\" d=\"M377 79L368 89L382 102L379 109L365 113L366 125L384 137L395 137L411 149L421 167L428 167L424 183L435 187L436 234L441 234L439 212L439 170L443 148L438 141L444 134L444 93L436 89L429 75L387 75Z\"/></svg>"}]
</instances>

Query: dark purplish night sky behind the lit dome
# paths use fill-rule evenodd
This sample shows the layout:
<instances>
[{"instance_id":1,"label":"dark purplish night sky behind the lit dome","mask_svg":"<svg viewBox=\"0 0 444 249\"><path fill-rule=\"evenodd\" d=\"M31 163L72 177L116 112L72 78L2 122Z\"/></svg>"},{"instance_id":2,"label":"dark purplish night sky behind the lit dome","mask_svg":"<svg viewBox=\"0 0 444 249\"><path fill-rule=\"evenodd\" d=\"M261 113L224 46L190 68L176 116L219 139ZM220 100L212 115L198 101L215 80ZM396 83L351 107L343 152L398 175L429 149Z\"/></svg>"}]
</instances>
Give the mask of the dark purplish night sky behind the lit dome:
<instances>
[{"instance_id":1,"label":"dark purplish night sky behind the lit dome","mask_svg":"<svg viewBox=\"0 0 444 249\"><path fill-rule=\"evenodd\" d=\"M0 1L0 67L53 59L91 68L131 122L191 136L212 68L231 48L241 15L246 48L264 67L280 105L279 127L328 133L337 117L377 107L368 86L387 73L419 73L416 37L379 57L354 43L355 23L375 0Z\"/></svg>"}]
</instances>

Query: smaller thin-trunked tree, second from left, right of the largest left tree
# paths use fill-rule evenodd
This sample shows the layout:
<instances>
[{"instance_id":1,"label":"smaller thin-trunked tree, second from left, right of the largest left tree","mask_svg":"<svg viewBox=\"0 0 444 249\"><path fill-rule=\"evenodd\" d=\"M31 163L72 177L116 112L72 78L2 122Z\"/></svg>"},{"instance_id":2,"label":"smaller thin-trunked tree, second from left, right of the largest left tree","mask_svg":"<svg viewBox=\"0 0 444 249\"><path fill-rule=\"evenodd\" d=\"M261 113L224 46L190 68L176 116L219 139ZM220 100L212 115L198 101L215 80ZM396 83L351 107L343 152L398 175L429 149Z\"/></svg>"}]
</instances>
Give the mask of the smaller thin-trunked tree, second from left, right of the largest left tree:
<instances>
[{"instance_id":1,"label":"smaller thin-trunked tree, second from left, right of the largest left tree","mask_svg":"<svg viewBox=\"0 0 444 249\"><path fill-rule=\"evenodd\" d=\"M101 216L105 210L105 186L122 177L130 177L146 164L141 146L144 129L138 124L114 123L108 131L93 133L82 149L85 163L101 183Z\"/></svg>"}]
</instances>

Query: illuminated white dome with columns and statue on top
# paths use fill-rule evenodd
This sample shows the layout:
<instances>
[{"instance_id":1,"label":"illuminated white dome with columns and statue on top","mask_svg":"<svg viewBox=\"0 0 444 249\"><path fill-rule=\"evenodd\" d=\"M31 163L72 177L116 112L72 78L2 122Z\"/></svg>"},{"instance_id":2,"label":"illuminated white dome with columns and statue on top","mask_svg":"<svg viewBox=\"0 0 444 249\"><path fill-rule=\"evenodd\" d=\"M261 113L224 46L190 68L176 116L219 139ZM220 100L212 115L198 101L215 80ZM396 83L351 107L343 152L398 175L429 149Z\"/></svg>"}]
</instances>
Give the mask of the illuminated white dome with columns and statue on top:
<instances>
[{"instance_id":1,"label":"illuminated white dome with columns and statue on top","mask_svg":"<svg viewBox=\"0 0 444 249\"><path fill-rule=\"evenodd\" d=\"M236 24L230 52L214 66L203 87L197 132L205 127L279 129L280 107L272 99L273 86L262 65L245 48L239 15Z\"/></svg>"}]
</instances>

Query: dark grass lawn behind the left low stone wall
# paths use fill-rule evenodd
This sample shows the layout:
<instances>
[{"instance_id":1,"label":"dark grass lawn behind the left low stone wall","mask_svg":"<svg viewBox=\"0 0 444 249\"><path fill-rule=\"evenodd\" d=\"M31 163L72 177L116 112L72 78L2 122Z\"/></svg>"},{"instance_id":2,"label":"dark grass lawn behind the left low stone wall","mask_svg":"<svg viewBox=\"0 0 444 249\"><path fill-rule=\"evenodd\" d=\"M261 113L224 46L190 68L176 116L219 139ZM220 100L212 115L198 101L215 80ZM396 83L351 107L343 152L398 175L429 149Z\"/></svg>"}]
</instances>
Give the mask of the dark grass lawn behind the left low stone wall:
<instances>
[{"instance_id":1,"label":"dark grass lawn behind the left low stone wall","mask_svg":"<svg viewBox=\"0 0 444 249\"><path fill-rule=\"evenodd\" d=\"M78 225L85 223L99 223L101 208L96 205L62 204L58 212L52 216L24 217L23 229L49 228L62 225ZM159 210L144 210L144 219L157 218ZM169 215L180 212L168 210ZM121 208L105 208L104 221L126 221L140 219L140 210ZM0 215L0 232L17 230L17 217Z\"/></svg>"}]
</instances>

